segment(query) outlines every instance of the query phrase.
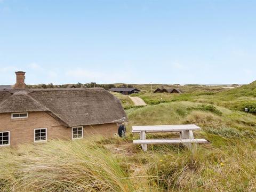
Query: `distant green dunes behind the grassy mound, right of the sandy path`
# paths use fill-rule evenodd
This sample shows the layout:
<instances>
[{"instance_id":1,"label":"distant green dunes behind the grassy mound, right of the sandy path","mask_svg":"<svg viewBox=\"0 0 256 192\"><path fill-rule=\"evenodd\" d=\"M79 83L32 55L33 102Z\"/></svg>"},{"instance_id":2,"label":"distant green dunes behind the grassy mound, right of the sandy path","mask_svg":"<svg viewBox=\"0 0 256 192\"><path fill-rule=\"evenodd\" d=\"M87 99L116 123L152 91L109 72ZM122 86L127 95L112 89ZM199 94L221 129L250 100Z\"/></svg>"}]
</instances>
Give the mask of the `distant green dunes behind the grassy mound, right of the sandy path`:
<instances>
[{"instance_id":1,"label":"distant green dunes behind the grassy mound, right of the sandy path","mask_svg":"<svg viewBox=\"0 0 256 192\"><path fill-rule=\"evenodd\" d=\"M243 110L245 103L256 102L256 81L231 90L220 87L184 86L184 94L153 93L137 94L149 105L160 102L193 101L210 103L228 109Z\"/></svg>"}]
</instances>

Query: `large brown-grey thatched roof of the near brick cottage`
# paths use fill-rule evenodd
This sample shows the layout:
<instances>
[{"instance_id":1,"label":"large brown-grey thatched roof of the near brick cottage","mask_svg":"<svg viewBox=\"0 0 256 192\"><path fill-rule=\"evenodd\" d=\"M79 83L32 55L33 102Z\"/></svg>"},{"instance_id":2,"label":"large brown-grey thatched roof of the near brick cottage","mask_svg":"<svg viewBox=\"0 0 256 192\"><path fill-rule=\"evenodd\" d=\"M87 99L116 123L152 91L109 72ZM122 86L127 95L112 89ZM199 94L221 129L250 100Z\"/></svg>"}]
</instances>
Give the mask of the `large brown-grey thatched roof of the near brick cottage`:
<instances>
[{"instance_id":1,"label":"large brown-grey thatched roof of the near brick cottage","mask_svg":"<svg viewBox=\"0 0 256 192\"><path fill-rule=\"evenodd\" d=\"M46 111L67 126L118 122L121 102L101 88L1 90L0 113Z\"/></svg>"}]
</instances>

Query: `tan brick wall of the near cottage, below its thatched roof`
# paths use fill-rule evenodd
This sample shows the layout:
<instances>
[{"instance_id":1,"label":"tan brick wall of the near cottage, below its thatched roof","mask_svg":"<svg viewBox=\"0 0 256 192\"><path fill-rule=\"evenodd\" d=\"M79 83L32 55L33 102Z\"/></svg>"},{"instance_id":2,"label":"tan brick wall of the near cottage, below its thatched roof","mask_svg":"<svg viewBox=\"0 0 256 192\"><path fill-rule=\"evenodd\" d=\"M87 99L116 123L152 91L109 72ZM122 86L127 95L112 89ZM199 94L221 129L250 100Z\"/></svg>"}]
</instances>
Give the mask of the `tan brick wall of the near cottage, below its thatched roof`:
<instances>
[{"instance_id":1,"label":"tan brick wall of the near cottage, below its thatched roof","mask_svg":"<svg viewBox=\"0 0 256 192\"><path fill-rule=\"evenodd\" d=\"M10 131L10 145L34 143L34 129L47 128L47 140L71 139L71 128L65 127L45 112L30 112L28 118L11 119L11 113L0 114L0 132ZM84 126L84 138L101 134L111 136L117 132L116 123Z\"/></svg>"}]
</instances>

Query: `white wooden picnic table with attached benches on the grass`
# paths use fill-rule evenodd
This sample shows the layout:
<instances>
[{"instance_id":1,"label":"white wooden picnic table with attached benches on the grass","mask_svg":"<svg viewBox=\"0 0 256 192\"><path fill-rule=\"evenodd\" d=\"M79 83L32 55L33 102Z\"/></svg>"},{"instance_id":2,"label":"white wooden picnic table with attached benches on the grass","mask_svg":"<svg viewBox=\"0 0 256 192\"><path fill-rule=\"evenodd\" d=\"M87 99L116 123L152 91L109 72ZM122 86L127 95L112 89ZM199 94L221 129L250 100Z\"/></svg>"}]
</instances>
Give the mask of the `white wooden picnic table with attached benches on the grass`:
<instances>
[{"instance_id":1,"label":"white wooden picnic table with attached benches on the grass","mask_svg":"<svg viewBox=\"0 0 256 192\"><path fill-rule=\"evenodd\" d=\"M207 143L205 139L194 139L194 130L201 130L196 125L149 125L149 126L132 126L132 133L140 133L140 140L134 140L134 144L140 144L143 151L147 150L147 144L174 144L182 143L190 150L192 143ZM179 132L179 139L146 139L146 132Z\"/></svg>"}]
</instances>

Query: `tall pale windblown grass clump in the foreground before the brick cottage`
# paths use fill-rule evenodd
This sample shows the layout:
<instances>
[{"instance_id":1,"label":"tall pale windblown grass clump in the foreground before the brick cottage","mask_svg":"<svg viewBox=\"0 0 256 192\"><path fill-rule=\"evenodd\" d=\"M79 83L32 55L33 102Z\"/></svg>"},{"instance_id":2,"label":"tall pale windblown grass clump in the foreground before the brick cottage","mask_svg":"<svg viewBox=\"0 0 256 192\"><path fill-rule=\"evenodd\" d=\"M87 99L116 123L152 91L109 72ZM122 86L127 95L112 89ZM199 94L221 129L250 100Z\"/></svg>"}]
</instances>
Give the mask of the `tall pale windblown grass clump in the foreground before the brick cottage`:
<instances>
[{"instance_id":1,"label":"tall pale windblown grass clump in the foreground before the brick cottage","mask_svg":"<svg viewBox=\"0 0 256 192\"><path fill-rule=\"evenodd\" d=\"M51 141L1 153L0 191L134 191L126 167L94 142Z\"/></svg>"}]
</instances>

